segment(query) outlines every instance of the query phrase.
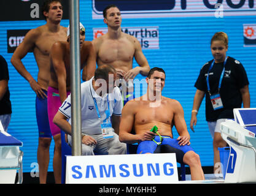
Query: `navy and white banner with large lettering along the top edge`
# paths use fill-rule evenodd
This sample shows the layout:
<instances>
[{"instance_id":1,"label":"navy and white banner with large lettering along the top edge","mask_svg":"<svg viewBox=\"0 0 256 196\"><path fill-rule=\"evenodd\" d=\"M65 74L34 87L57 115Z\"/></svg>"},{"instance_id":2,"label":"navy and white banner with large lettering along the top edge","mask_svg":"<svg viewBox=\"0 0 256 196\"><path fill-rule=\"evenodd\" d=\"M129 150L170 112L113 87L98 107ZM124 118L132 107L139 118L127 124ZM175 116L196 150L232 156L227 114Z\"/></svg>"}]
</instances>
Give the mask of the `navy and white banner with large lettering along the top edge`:
<instances>
[{"instance_id":1,"label":"navy and white banner with large lettering along the top edge","mask_svg":"<svg viewBox=\"0 0 256 196\"><path fill-rule=\"evenodd\" d=\"M113 2L113 1L112 1ZM93 19L103 19L109 1L93 0ZM256 15L254 0L115 1L122 18L217 17Z\"/></svg>"}]
</instances>

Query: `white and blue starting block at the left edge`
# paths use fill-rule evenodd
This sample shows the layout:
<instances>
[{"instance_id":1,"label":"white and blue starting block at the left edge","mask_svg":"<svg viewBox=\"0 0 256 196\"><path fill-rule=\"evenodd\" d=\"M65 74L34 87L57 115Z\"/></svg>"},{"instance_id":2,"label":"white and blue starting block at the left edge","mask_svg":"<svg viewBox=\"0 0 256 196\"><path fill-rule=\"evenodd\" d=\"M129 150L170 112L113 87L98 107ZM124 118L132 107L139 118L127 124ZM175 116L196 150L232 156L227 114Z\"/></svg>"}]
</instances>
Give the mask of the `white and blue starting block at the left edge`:
<instances>
[{"instance_id":1,"label":"white and blue starting block at the left edge","mask_svg":"<svg viewBox=\"0 0 256 196\"><path fill-rule=\"evenodd\" d=\"M22 142L4 131L0 121L0 184L14 184L18 170L17 184L23 181Z\"/></svg>"}]
</instances>

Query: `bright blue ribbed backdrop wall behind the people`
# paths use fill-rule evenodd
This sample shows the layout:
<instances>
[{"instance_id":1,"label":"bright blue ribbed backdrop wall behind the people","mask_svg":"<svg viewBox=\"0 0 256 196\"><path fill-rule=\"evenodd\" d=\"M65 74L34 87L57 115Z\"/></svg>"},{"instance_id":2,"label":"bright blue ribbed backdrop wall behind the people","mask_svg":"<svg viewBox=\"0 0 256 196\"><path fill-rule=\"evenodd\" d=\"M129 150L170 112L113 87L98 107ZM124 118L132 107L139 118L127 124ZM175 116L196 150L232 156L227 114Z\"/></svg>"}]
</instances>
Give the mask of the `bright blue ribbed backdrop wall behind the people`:
<instances>
[{"instance_id":1,"label":"bright blue ribbed backdrop wall behind the people","mask_svg":"<svg viewBox=\"0 0 256 196\"><path fill-rule=\"evenodd\" d=\"M195 1L196 2L196 1ZM198 1L201 2L201 1ZM103 19L93 19L92 2L80 1L80 21L86 29L86 40L93 40L93 28L106 28ZM196 89L193 87L203 64L212 59L210 40L217 31L225 31L229 37L228 55L238 59L244 65L250 82L251 107L256 107L256 47L244 47L243 24L256 23L255 16L208 17L152 17L123 18L122 27L158 27L159 49L143 50L150 67L162 67L166 71L166 85L163 96L179 100L184 108L185 121L191 136L192 146L200 154L203 166L213 165L212 138L205 121L204 100L198 113L195 133L190 130L190 115ZM0 22L0 53L9 64L9 88L12 101L12 119L9 133L23 141L25 172L31 171L31 163L37 162L37 124L35 114L36 95L29 84L10 64L12 53L7 53L8 29L32 29L44 25L45 21L8 21ZM61 21L68 26L69 21ZM23 63L26 69L37 78L37 66L33 53L29 53ZM137 66L134 62L134 66ZM141 75L139 80L144 79ZM145 89L141 90L141 93ZM174 137L177 137L173 130ZM52 171L53 145L50 148L49 171Z\"/></svg>"}]
</instances>

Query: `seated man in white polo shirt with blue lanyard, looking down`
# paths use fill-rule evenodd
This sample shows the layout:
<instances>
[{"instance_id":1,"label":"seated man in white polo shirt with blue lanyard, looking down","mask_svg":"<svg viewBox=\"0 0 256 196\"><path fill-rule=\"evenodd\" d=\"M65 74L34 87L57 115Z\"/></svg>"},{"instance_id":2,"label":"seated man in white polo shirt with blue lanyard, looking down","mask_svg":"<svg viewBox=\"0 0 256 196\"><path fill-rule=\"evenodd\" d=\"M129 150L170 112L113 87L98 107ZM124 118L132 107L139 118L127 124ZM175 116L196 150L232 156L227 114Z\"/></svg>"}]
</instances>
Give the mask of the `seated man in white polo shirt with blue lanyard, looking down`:
<instances>
[{"instance_id":1,"label":"seated man in white polo shirt with blue lanyard, looking down","mask_svg":"<svg viewBox=\"0 0 256 196\"><path fill-rule=\"evenodd\" d=\"M116 79L114 67L104 65L96 69L95 77L81 84L82 155L126 154L125 143L118 139L123 103L119 88L114 86ZM71 118L69 95L53 118L68 134L69 145Z\"/></svg>"}]
</instances>

